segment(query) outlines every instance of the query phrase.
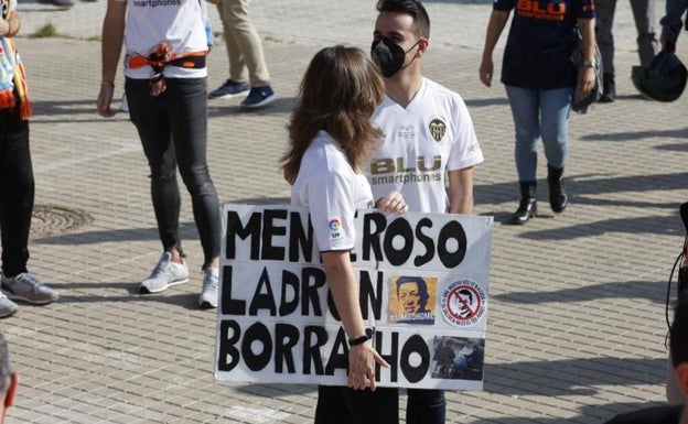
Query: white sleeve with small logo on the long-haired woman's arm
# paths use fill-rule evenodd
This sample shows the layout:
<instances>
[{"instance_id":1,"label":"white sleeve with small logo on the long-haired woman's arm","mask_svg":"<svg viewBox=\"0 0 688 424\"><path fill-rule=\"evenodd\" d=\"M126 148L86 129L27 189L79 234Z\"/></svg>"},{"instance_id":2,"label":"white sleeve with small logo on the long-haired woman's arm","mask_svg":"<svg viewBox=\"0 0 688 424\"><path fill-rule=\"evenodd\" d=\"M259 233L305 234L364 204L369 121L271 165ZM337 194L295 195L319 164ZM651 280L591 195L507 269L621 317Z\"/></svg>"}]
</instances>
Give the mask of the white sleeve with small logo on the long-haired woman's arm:
<instances>
[{"instance_id":1,"label":"white sleeve with small logo on the long-haired woman's arm","mask_svg":"<svg viewBox=\"0 0 688 424\"><path fill-rule=\"evenodd\" d=\"M356 206L351 182L343 175L329 173L311 178L307 191L320 251L353 249Z\"/></svg>"}]
</instances>

